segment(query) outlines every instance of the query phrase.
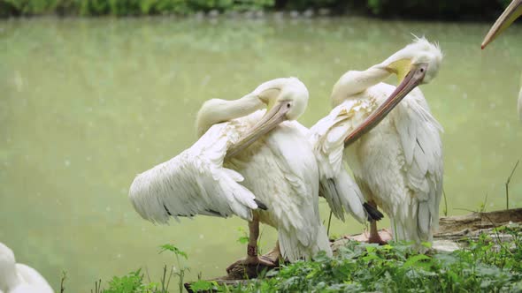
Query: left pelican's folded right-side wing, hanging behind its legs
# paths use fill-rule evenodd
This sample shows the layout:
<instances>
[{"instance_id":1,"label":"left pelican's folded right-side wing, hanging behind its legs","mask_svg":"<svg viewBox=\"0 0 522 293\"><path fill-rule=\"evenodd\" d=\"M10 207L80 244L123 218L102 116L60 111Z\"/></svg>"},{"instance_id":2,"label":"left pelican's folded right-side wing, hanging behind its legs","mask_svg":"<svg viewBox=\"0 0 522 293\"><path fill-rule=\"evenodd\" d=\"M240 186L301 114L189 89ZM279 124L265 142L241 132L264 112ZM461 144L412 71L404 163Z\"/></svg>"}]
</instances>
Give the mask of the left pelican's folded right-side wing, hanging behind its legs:
<instances>
[{"instance_id":1,"label":"left pelican's folded right-side wing, hanging behind its legs","mask_svg":"<svg viewBox=\"0 0 522 293\"><path fill-rule=\"evenodd\" d=\"M273 159L273 180L279 178L274 194L273 214L279 220L278 238L281 253L290 261L309 259L318 251L331 255L326 230L319 216L319 170L311 145L307 141L308 129L296 121L280 124L266 138ZM278 196L279 195L279 196Z\"/></svg>"}]
</instances>

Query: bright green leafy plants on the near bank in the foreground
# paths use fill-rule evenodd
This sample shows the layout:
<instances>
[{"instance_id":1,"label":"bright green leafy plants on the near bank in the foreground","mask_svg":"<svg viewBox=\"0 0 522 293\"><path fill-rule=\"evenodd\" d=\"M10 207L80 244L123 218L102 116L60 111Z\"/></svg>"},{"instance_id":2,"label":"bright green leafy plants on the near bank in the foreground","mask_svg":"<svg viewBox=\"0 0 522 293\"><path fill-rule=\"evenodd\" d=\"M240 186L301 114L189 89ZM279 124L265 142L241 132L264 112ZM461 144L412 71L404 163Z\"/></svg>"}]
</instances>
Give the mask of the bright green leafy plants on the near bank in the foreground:
<instances>
[{"instance_id":1,"label":"bright green leafy plants on the near bank in the foreground","mask_svg":"<svg viewBox=\"0 0 522 293\"><path fill-rule=\"evenodd\" d=\"M358 244L349 242L333 258L318 255L314 261L298 261L265 278L239 287L219 286L199 281L192 289L220 292L522 292L522 229L502 227L497 232L512 237L510 243L498 244L482 235L468 240L463 250L426 254L413 252L407 244ZM114 277L103 285L96 283L93 292L165 293L181 290L187 255L173 245L162 246L172 252L174 272L165 267L157 282L145 282L142 271ZM177 284L176 284L177 282Z\"/></svg>"}]
</instances>

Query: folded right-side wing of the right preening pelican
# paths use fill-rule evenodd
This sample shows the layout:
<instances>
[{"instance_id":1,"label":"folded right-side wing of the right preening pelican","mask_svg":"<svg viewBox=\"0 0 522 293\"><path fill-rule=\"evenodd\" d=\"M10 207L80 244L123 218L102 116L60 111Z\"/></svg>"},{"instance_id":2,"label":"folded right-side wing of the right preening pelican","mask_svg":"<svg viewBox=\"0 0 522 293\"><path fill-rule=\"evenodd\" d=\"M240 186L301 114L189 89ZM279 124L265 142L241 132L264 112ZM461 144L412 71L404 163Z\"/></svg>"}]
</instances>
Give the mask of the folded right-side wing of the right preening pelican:
<instances>
[{"instance_id":1,"label":"folded right-side wing of the right preening pelican","mask_svg":"<svg viewBox=\"0 0 522 293\"><path fill-rule=\"evenodd\" d=\"M395 128L404 152L407 186L418 199L418 230L431 235L439 223L442 194L442 131L419 90L412 91L416 102L403 101L394 109Z\"/></svg>"}]
</instances>

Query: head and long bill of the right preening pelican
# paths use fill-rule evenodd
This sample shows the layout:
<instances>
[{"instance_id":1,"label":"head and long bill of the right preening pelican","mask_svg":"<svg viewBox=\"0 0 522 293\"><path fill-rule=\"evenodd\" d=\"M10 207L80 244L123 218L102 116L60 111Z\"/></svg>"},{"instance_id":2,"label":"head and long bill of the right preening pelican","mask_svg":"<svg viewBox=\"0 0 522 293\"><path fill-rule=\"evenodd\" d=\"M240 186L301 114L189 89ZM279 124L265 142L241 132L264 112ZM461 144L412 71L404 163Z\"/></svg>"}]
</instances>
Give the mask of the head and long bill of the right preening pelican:
<instances>
[{"instance_id":1,"label":"head and long bill of the right preening pelican","mask_svg":"<svg viewBox=\"0 0 522 293\"><path fill-rule=\"evenodd\" d=\"M376 65L377 68L396 74L399 85L363 124L349 134L344 140L345 146L349 146L367 131L372 130L415 87L431 82L437 76L441 63L442 52L439 46L422 37L415 39L408 46L389 56L383 63Z\"/></svg>"}]
</instances>

